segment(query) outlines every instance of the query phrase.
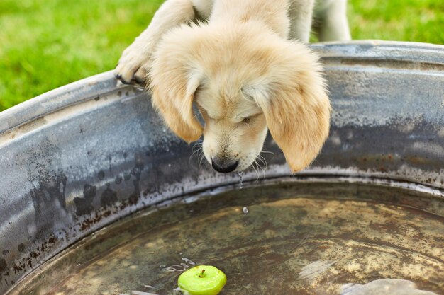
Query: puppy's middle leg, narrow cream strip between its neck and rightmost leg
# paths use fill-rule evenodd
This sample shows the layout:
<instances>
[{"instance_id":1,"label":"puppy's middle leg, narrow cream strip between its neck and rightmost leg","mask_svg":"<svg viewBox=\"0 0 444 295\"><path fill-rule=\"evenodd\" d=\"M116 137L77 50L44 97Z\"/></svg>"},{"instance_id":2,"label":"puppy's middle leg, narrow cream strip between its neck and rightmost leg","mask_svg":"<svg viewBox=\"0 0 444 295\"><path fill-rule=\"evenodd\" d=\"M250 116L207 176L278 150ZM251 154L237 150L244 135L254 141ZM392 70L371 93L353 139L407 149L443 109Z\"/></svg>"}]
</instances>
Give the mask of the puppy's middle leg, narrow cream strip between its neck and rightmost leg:
<instances>
[{"instance_id":1,"label":"puppy's middle leg, narrow cream strip between its neck and rightmost leg","mask_svg":"<svg viewBox=\"0 0 444 295\"><path fill-rule=\"evenodd\" d=\"M290 38L305 43L309 42L313 6L314 0L292 0L290 2Z\"/></svg>"}]
</instances>

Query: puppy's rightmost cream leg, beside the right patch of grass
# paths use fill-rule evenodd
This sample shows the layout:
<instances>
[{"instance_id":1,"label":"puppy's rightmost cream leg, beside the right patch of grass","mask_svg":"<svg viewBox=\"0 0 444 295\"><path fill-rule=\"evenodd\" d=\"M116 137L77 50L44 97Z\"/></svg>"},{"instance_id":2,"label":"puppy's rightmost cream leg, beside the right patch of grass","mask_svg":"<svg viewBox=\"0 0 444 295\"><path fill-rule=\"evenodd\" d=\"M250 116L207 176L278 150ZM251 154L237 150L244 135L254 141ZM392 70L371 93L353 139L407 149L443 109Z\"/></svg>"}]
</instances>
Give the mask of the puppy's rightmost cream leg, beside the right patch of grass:
<instances>
[{"instance_id":1,"label":"puppy's rightmost cream leg, beside the right patch of grass","mask_svg":"<svg viewBox=\"0 0 444 295\"><path fill-rule=\"evenodd\" d=\"M327 1L326 6L316 11L319 20L319 41L351 40L347 21L347 0Z\"/></svg>"}]
</instances>

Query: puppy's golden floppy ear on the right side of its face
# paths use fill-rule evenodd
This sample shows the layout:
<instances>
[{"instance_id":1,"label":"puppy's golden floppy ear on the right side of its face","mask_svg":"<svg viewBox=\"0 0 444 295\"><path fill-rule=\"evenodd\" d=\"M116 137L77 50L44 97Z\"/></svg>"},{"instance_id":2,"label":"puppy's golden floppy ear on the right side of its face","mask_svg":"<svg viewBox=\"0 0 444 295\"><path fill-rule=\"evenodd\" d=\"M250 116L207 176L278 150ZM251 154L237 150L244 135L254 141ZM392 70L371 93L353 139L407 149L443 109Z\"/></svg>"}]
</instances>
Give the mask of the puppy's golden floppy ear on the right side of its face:
<instances>
[{"instance_id":1,"label":"puppy's golden floppy ear on the right side of its face","mask_svg":"<svg viewBox=\"0 0 444 295\"><path fill-rule=\"evenodd\" d=\"M274 141L292 172L306 168L328 137L330 102L318 57L289 42L276 52L268 74L244 92L262 108Z\"/></svg>"}]
</instances>

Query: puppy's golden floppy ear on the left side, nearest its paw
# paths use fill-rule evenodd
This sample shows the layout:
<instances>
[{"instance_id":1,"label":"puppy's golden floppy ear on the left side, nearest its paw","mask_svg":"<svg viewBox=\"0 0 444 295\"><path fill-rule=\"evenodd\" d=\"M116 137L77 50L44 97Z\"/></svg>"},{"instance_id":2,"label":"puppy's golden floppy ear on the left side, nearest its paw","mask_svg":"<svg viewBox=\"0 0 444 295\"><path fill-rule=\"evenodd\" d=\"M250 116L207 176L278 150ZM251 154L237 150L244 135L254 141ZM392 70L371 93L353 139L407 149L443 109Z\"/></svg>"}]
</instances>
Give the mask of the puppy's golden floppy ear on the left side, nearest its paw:
<instances>
[{"instance_id":1,"label":"puppy's golden floppy ear on the left side, nearest its paw","mask_svg":"<svg viewBox=\"0 0 444 295\"><path fill-rule=\"evenodd\" d=\"M182 30L188 28L177 28L165 35L153 54L148 80L154 108L172 132L192 142L202 134L193 112L194 93L202 74L193 64L192 37Z\"/></svg>"}]
</instances>

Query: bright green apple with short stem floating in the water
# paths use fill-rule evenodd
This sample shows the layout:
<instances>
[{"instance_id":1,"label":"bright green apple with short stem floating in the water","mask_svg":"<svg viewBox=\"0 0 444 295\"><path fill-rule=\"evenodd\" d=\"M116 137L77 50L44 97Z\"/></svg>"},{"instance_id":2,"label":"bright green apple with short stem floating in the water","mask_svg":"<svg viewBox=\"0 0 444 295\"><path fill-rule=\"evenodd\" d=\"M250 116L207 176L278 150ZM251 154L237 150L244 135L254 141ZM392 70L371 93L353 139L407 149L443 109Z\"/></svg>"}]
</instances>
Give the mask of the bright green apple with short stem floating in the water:
<instances>
[{"instance_id":1,"label":"bright green apple with short stem floating in the water","mask_svg":"<svg viewBox=\"0 0 444 295\"><path fill-rule=\"evenodd\" d=\"M216 295L227 282L226 275L211 265L198 265L180 274L177 284L189 295Z\"/></svg>"}]
</instances>

